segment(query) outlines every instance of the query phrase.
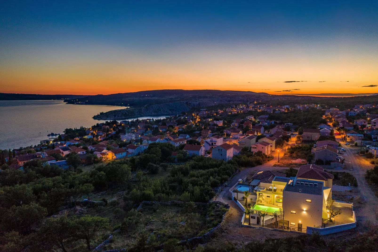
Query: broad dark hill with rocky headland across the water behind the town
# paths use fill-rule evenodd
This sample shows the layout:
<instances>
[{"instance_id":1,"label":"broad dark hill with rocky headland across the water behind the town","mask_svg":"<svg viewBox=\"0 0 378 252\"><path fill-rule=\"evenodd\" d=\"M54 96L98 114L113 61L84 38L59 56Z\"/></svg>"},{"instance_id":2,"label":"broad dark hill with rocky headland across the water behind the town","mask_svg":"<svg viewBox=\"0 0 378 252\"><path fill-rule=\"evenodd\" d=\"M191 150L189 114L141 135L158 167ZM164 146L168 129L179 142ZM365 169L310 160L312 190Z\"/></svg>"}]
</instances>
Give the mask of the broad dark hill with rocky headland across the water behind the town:
<instances>
[{"instance_id":1,"label":"broad dark hill with rocky headland across the water behind the town","mask_svg":"<svg viewBox=\"0 0 378 252\"><path fill-rule=\"evenodd\" d=\"M267 100L272 95L250 91L223 90L151 90L112 95L93 95L67 100L73 104L101 104L130 106L94 116L98 120L127 119L141 116L180 114L195 107L208 107L225 103L249 103Z\"/></svg>"}]
</instances>

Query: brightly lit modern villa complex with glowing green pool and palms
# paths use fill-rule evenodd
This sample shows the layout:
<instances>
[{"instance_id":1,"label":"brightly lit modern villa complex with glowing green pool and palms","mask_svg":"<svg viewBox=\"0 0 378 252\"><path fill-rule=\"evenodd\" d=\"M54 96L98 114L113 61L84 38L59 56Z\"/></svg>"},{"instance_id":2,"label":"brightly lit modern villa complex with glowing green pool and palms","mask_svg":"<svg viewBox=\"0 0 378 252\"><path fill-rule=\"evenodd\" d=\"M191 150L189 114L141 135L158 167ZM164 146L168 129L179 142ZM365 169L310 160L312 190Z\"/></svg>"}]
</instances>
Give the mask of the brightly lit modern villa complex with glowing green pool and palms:
<instances>
[{"instance_id":1,"label":"brightly lit modern villa complex with glowing green pool and palms","mask_svg":"<svg viewBox=\"0 0 378 252\"><path fill-rule=\"evenodd\" d=\"M242 225L321 235L356 227L353 204L332 200L333 175L322 167L303 165L296 177L275 173L257 171L231 188L232 199L245 212Z\"/></svg>"}]
</instances>

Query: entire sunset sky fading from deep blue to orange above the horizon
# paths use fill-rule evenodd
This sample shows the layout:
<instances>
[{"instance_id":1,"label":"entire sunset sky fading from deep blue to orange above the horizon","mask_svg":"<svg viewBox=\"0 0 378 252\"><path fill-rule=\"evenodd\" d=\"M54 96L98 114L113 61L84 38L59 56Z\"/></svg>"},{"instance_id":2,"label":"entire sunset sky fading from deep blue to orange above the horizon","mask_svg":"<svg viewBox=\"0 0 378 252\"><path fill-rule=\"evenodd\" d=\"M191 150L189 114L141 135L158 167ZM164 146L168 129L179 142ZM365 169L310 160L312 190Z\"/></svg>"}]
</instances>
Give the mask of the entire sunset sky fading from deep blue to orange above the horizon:
<instances>
[{"instance_id":1,"label":"entire sunset sky fading from deep blue to orange above the horizon","mask_svg":"<svg viewBox=\"0 0 378 252\"><path fill-rule=\"evenodd\" d=\"M378 92L378 1L80 2L2 2L0 92Z\"/></svg>"}]
</instances>

